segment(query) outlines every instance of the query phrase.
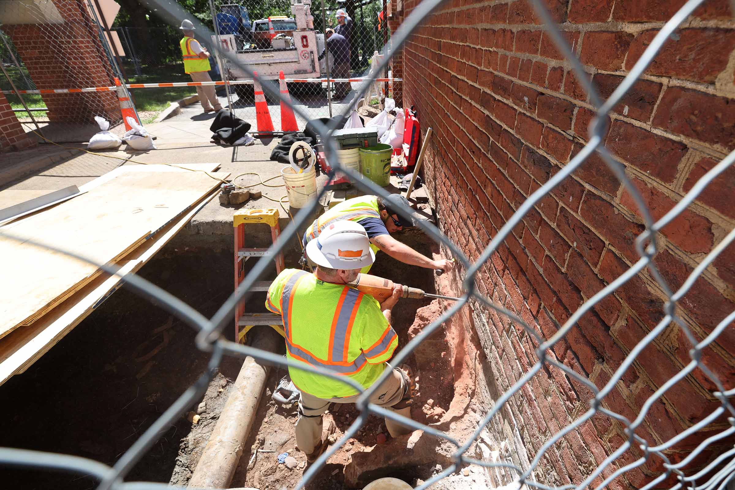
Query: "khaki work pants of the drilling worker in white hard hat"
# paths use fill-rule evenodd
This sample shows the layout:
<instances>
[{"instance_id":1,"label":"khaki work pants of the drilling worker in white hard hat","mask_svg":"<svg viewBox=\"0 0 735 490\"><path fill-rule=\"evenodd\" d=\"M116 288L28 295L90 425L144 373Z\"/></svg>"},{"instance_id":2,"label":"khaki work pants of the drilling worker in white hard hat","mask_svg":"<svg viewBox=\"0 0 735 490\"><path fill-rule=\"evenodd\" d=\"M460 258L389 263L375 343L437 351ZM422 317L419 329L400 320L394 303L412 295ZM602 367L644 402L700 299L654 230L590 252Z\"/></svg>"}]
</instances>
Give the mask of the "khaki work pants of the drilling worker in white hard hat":
<instances>
[{"instance_id":1,"label":"khaki work pants of the drilling worker in white hard hat","mask_svg":"<svg viewBox=\"0 0 735 490\"><path fill-rule=\"evenodd\" d=\"M387 369L391 369L390 366ZM373 392L370 403L388 408L404 417L411 417L410 381L406 374L397 367L392 368L392 375ZM298 399L298 420L296 421L296 444L298 449L311 454L321 440L322 414L331 403L355 403L359 394L343 398L319 398L312 394L301 392ZM411 433L413 429L406 428L385 419L385 426L393 437Z\"/></svg>"}]
</instances>

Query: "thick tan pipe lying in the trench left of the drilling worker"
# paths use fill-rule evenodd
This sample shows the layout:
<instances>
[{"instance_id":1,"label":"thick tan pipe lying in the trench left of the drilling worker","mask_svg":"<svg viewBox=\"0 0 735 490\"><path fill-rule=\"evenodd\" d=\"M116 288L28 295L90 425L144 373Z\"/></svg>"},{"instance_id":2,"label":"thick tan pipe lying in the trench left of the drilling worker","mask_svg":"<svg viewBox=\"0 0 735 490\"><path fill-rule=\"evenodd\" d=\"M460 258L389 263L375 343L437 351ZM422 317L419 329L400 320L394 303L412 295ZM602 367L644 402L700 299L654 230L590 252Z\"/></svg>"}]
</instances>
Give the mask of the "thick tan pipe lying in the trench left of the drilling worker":
<instances>
[{"instance_id":1,"label":"thick tan pipe lying in the trench left of the drilling worker","mask_svg":"<svg viewBox=\"0 0 735 490\"><path fill-rule=\"evenodd\" d=\"M251 332L254 333L252 347L268 352L276 350L280 337L273 328ZM243 455L243 444L253 427L269 370L270 367L261 366L252 357L245 358L217 425L189 480L190 488L229 488L240 456Z\"/></svg>"}]
</instances>

